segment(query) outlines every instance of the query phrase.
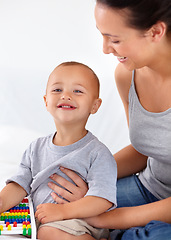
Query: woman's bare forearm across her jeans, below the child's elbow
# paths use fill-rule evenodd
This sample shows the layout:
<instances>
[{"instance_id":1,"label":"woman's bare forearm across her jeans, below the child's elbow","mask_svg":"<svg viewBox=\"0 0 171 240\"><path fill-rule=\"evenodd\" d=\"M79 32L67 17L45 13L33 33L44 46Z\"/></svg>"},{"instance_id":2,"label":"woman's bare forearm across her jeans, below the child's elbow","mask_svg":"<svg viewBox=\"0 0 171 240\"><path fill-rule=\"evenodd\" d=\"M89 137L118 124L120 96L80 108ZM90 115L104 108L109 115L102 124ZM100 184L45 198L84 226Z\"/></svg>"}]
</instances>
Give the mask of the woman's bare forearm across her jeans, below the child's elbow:
<instances>
[{"instance_id":1,"label":"woman's bare forearm across her jeans, below the child's elbow","mask_svg":"<svg viewBox=\"0 0 171 240\"><path fill-rule=\"evenodd\" d=\"M171 197L137 207L116 208L86 221L92 226L110 229L145 226L152 220L171 223L170 206Z\"/></svg>"}]
</instances>

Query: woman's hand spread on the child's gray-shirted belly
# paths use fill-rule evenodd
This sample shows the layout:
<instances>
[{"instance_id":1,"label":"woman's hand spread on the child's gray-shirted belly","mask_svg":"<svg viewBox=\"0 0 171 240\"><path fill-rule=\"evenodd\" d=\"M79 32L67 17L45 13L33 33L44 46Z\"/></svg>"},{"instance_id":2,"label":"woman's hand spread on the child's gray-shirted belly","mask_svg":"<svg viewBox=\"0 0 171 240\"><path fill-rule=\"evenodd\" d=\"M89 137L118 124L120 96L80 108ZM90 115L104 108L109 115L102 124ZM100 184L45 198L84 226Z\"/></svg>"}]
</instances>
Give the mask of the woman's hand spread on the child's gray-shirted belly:
<instances>
[{"instance_id":1,"label":"woman's hand spread on the child's gray-shirted belly","mask_svg":"<svg viewBox=\"0 0 171 240\"><path fill-rule=\"evenodd\" d=\"M53 182L50 182L48 184L48 186L55 191L57 194L59 194L60 196L62 196L64 199L66 199L69 202L73 202L76 200L79 200L80 198L84 197L87 190L88 190L88 186L87 184L82 180L81 177L79 177L75 172L73 172L70 169L67 168L63 168L60 167L60 170L65 173L69 178L71 178L71 180L76 184L74 185L73 183L67 181L66 179L64 179L63 177L54 174L52 175L50 178L59 183L61 186L63 186L65 189L57 186L56 184L54 184ZM57 202L57 203L67 203L66 200L60 198L57 194L55 194L54 192L51 194L52 198Z\"/></svg>"}]
</instances>

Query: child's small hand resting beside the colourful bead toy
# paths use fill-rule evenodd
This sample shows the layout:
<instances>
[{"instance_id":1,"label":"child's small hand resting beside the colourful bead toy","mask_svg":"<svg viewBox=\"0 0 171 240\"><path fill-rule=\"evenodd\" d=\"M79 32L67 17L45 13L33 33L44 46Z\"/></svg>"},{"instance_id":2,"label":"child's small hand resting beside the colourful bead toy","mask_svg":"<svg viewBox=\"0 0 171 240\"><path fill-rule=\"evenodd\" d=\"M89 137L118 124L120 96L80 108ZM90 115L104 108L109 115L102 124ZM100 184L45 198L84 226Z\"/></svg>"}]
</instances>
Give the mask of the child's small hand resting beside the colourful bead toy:
<instances>
[{"instance_id":1,"label":"child's small hand resting beside the colourful bead toy","mask_svg":"<svg viewBox=\"0 0 171 240\"><path fill-rule=\"evenodd\" d=\"M60 221L64 219L64 204L44 203L37 206L35 217L41 223Z\"/></svg>"}]
</instances>

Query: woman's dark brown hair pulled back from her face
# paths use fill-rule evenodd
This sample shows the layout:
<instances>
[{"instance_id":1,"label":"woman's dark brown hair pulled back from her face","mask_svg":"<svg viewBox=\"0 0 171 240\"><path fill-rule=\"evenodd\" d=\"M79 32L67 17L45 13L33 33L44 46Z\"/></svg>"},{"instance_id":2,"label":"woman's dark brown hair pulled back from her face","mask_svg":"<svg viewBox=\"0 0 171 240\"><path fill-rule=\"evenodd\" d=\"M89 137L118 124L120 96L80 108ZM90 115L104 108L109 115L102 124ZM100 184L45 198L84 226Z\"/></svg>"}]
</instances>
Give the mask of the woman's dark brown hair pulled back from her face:
<instances>
[{"instance_id":1,"label":"woman's dark brown hair pulled back from her face","mask_svg":"<svg viewBox=\"0 0 171 240\"><path fill-rule=\"evenodd\" d=\"M128 24L140 30L147 30L162 21L171 33L171 0L96 0L97 3L118 10L128 10Z\"/></svg>"}]
</instances>

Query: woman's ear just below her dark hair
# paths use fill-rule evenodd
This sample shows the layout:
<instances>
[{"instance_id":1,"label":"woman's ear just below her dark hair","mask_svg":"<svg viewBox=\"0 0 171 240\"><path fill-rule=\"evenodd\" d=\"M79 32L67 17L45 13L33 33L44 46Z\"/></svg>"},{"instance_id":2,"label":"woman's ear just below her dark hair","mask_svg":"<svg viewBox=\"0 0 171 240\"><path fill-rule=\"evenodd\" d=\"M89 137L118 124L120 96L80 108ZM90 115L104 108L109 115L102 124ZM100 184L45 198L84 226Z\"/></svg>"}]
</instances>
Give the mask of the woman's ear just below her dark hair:
<instances>
[{"instance_id":1,"label":"woman's ear just below her dark hair","mask_svg":"<svg viewBox=\"0 0 171 240\"><path fill-rule=\"evenodd\" d=\"M159 42L166 33L167 26L164 22L157 22L150 28L153 42Z\"/></svg>"}]
</instances>

